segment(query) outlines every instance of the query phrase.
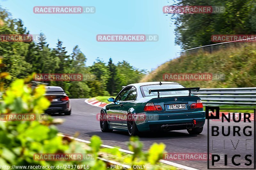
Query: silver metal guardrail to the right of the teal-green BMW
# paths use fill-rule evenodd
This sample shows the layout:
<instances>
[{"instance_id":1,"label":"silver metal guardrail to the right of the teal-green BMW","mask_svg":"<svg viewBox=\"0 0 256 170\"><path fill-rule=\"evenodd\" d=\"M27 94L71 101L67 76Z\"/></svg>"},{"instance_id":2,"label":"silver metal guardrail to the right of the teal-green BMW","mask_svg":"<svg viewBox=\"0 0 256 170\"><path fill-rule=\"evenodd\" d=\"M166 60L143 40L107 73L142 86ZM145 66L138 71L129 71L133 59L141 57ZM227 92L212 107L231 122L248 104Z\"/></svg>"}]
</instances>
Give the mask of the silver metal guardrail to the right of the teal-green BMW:
<instances>
[{"instance_id":1,"label":"silver metal guardrail to the right of the teal-green BMW","mask_svg":"<svg viewBox=\"0 0 256 170\"><path fill-rule=\"evenodd\" d=\"M204 105L256 105L256 87L215 88L192 91Z\"/></svg>"}]
</instances>

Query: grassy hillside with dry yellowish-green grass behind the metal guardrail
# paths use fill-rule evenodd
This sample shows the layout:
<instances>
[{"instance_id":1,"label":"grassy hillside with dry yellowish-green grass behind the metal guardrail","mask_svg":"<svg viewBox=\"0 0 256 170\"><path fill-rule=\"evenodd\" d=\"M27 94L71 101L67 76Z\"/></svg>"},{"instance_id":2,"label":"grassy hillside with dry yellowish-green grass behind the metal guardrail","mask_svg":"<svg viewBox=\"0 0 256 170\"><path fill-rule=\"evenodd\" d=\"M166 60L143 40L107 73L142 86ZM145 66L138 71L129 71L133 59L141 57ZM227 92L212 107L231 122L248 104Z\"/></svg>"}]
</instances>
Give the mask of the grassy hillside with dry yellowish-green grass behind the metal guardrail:
<instances>
[{"instance_id":1,"label":"grassy hillside with dry yellowish-green grass behind the metal guardrail","mask_svg":"<svg viewBox=\"0 0 256 170\"><path fill-rule=\"evenodd\" d=\"M186 87L229 88L256 86L256 44L213 53L183 55L150 72L140 82L164 81L164 73L225 74L223 81L176 81Z\"/></svg>"}]
</instances>

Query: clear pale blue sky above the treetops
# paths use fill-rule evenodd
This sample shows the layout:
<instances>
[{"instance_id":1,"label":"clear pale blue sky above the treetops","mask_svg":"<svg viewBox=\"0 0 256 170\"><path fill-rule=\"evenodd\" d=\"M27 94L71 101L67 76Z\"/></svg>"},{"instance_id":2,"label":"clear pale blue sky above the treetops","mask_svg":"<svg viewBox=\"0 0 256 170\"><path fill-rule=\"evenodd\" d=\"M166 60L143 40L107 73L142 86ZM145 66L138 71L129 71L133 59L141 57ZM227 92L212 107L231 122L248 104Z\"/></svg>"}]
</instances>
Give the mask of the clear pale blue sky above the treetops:
<instances>
[{"instance_id":1,"label":"clear pale blue sky above the treetops","mask_svg":"<svg viewBox=\"0 0 256 170\"><path fill-rule=\"evenodd\" d=\"M169 2L169 3L168 3ZM97 57L114 63L126 60L139 69L155 69L179 56L174 24L162 8L167 0L0 0L13 18L21 18L30 34L45 34L50 47L63 41L68 53L75 45L86 55L86 65ZM34 6L94 6L94 14L35 14ZM98 42L97 34L158 34L157 42Z\"/></svg>"}]
</instances>

